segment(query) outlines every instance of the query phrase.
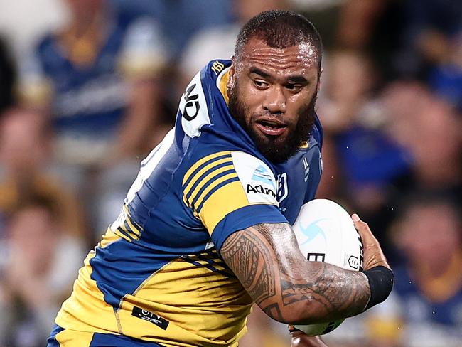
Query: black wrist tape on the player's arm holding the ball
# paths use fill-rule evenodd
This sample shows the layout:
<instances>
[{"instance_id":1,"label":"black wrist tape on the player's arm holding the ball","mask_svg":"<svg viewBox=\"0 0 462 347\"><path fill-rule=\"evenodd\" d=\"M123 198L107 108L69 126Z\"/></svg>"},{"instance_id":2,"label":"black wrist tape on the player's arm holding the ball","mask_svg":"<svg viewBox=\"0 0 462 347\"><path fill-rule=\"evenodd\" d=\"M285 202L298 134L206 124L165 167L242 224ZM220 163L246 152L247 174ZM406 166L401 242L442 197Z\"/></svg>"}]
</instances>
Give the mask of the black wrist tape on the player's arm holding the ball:
<instances>
[{"instance_id":1,"label":"black wrist tape on the player's arm holding the ball","mask_svg":"<svg viewBox=\"0 0 462 347\"><path fill-rule=\"evenodd\" d=\"M370 299L364 310L385 301L392 292L394 274L385 266L376 266L364 271L369 280Z\"/></svg>"}]
</instances>

